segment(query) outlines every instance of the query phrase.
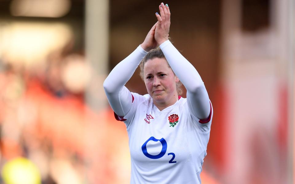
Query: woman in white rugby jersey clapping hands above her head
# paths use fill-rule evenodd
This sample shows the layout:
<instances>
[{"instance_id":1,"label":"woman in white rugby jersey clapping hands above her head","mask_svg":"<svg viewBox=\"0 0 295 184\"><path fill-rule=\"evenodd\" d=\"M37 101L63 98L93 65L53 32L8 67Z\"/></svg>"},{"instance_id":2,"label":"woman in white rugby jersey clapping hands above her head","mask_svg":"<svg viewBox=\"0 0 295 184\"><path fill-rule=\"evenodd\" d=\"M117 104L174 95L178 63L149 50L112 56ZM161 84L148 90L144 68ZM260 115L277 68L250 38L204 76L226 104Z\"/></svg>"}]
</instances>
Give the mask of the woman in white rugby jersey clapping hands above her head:
<instances>
[{"instance_id":1,"label":"woman in white rugby jersey clapping hands above her head","mask_svg":"<svg viewBox=\"0 0 295 184\"><path fill-rule=\"evenodd\" d=\"M168 5L159 10L144 42L114 67L104 90L127 127L131 183L201 183L213 109L200 75L168 40ZM141 60L143 96L124 86ZM187 98L178 96L179 81Z\"/></svg>"}]
</instances>

